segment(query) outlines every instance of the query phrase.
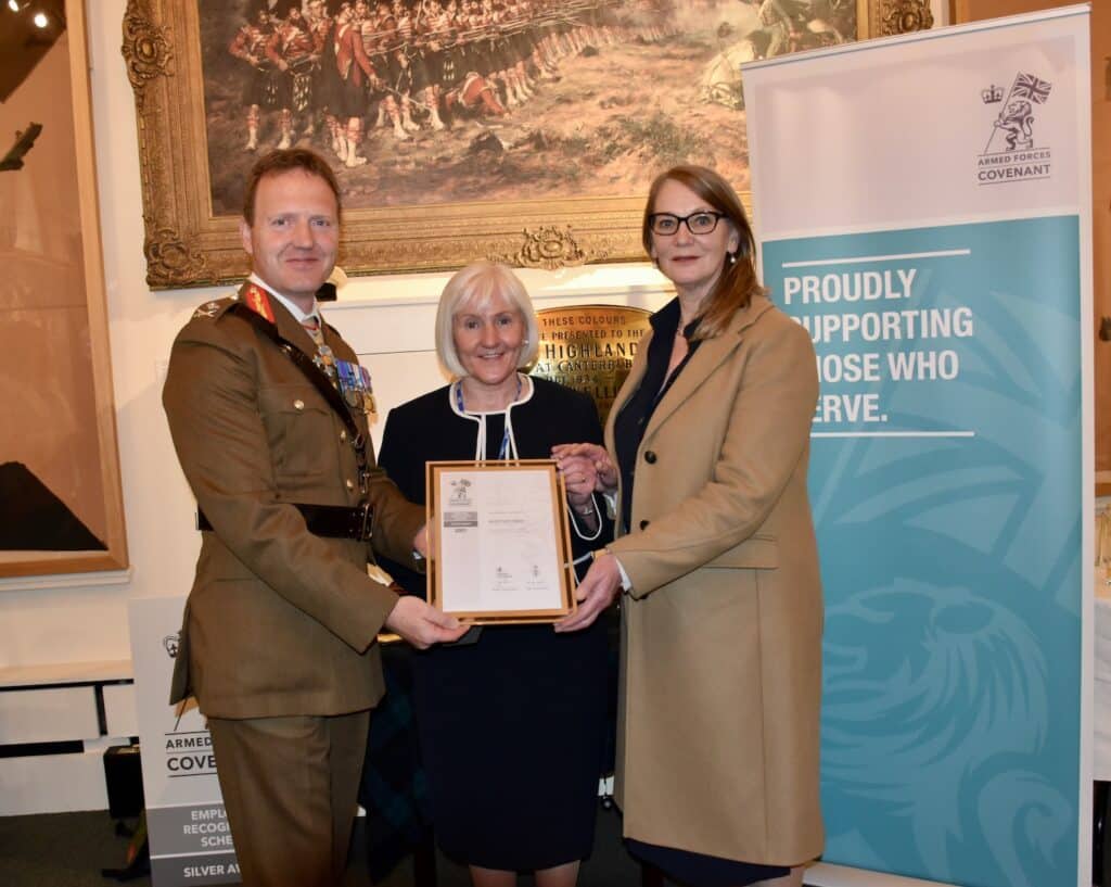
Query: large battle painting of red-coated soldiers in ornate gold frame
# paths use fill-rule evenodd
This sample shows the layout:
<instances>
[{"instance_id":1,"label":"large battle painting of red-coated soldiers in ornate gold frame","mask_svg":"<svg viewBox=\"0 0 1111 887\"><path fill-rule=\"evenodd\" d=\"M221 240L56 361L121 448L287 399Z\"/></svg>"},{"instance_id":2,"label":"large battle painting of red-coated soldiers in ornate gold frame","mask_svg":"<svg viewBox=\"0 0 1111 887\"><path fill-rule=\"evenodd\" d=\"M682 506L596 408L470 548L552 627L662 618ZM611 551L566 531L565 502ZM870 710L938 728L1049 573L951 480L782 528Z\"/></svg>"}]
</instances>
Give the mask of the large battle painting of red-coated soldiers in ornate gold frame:
<instances>
[{"instance_id":1,"label":"large battle painting of red-coated soldiers in ornate gold frame","mask_svg":"<svg viewBox=\"0 0 1111 887\"><path fill-rule=\"evenodd\" d=\"M749 190L741 64L925 23L907 10L929 14L918 0L132 0L149 279L240 276L244 177L288 146L336 168L351 272L640 258L655 172L700 162Z\"/></svg>"}]
</instances>

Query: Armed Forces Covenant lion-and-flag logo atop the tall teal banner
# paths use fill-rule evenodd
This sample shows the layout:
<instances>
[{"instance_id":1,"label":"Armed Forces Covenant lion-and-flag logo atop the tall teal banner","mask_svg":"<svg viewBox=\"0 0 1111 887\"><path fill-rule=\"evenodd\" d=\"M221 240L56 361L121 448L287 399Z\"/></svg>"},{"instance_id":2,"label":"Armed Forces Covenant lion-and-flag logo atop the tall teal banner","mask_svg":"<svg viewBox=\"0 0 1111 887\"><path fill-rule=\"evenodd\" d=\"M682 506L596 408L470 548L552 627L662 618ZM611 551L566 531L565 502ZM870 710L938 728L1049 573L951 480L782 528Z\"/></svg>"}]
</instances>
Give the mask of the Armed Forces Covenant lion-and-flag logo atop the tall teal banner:
<instances>
[{"instance_id":1,"label":"Armed Forces Covenant lion-and-flag logo atop the tall teal banner","mask_svg":"<svg viewBox=\"0 0 1111 887\"><path fill-rule=\"evenodd\" d=\"M977 183L1002 185L1004 182L1048 179L1052 171L1052 150L1039 142L1034 124L1034 107L1049 100L1053 84L1033 74L1019 72L1011 89L1003 96L1003 89L994 84L980 92L983 103L999 107L991 122L988 143L983 153L977 157Z\"/></svg>"}]
</instances>

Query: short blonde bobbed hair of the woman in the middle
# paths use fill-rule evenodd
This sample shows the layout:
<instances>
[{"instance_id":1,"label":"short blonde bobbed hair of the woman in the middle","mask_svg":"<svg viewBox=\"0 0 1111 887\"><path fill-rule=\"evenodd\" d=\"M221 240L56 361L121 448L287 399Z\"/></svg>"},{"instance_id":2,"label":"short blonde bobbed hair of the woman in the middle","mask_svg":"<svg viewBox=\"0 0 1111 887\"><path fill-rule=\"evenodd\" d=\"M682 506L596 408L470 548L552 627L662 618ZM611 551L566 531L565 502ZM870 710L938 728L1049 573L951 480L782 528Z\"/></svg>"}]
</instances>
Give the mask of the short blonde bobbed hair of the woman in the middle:
<instances>
[{"instance_id":1,"label":"short blonde bobbed hair of the woman in the middle","mask_svg":"<svg viewBox=\"0 0 1111 887\"><path fill-rule=\"evenodd\" d=\"M536 359L540 327L524 285L504 265L478 261L452 275L440 293L440 307L436 311L436 353L452 376L462 378L468 375L456 350L456 315L464 307L482 310L497 296L509 299L524 321L524 348L521 349L517 368L527 367Z\"/></svg>"}]
</instances>

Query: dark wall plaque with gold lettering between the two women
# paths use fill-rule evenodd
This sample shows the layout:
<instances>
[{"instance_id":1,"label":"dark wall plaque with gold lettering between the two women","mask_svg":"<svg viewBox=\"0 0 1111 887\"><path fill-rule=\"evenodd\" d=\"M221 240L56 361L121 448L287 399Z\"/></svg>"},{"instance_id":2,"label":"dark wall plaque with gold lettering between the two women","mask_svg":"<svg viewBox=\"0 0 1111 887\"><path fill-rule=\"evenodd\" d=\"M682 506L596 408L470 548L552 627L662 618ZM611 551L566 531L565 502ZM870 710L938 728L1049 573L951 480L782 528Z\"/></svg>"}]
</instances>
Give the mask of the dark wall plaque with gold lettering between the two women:
<instances>
[{"instance_id":1,"label":"dark wall plaque with gold lettering between the two women","mask_svg":"<svg viewBox=\"0 0 1111 887\"><path fill-rule=\"evenodd\" d=\"M650 329L651 311L583 305L537 311L540 350L531 372L594 399L602 423Z\"/></svg>"}]
</instances>

